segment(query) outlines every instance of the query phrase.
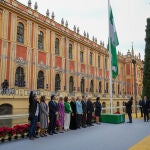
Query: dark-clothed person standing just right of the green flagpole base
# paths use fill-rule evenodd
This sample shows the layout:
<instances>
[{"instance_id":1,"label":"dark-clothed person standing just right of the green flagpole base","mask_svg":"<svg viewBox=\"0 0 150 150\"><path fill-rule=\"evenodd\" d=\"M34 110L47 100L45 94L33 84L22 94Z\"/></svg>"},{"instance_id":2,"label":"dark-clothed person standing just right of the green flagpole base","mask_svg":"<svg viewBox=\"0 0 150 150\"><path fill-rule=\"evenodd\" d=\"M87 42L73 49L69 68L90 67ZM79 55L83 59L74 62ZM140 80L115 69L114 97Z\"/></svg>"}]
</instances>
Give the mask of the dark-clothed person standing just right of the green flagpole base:
<instances>
[{"instance_id":1,"label":"dark-clothed person standing just right of the green flagpole base","mask_svg":"<svg viewBox=\"0 0 150 150\"><path fill-rule=\"evenodd\" d=\"M129 99L127 103L125 103L126 106L126 113L128 114L129 122L132 123L132 104L133 104L133 97Z\"/></svg>"}]
</instances>

